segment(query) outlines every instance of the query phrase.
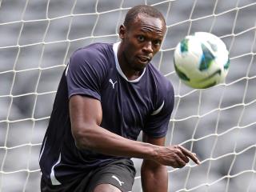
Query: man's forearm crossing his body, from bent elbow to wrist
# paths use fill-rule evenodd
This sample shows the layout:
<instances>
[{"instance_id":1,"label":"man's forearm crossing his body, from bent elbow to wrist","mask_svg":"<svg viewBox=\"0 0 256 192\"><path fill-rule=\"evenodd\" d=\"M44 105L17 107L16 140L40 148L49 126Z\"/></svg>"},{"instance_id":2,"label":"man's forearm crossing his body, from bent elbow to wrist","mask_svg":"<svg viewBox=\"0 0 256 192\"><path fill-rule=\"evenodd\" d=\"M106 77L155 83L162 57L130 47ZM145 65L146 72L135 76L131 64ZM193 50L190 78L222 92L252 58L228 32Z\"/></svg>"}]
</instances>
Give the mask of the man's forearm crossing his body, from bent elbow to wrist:
<instances>
[{"instance_id":1,"label":"man's forearm crossing his body, from bent elbow to wrist","mask_svg":"<svg viewBox=\"0 0 256 192\"><path fill-rule=\"evenodd\" d=\"M153 159L156 154L155 150L159 147L123 138L100 126L84 129L84 131L74 134L74 138L78 149L130 158Z\"/></svg>"}]
</instances>

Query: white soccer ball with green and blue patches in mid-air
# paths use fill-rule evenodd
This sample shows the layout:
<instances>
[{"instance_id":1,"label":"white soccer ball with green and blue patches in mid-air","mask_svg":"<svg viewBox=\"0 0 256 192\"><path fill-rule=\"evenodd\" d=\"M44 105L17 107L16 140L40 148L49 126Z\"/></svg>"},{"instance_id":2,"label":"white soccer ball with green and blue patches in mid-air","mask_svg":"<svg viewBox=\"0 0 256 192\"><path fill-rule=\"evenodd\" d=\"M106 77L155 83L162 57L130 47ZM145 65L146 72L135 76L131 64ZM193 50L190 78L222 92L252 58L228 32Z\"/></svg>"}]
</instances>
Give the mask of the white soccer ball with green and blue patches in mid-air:
<instances>
[{"instance_id":1,"label":"white soccer ball with green and blue patches in mid-air","mask_svg":"<svg viewBox=\"0 0 256 192\"><path fill-rule=\"evenodd\" d=\"M174 50L174 68L187 86L206 89L224 82L229 51L220 38L206 32L188 35Z\"/></svg>"}]
</instances>

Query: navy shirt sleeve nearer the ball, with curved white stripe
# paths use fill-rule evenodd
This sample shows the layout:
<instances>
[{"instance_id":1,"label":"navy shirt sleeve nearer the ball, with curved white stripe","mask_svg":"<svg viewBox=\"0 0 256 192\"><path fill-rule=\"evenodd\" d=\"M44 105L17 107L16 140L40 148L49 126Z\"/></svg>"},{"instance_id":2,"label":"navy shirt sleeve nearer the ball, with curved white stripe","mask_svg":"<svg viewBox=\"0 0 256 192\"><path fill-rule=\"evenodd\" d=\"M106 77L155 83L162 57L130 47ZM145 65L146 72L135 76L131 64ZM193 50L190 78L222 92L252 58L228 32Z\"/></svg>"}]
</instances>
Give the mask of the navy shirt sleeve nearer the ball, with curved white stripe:
<instances>
[{"instance_id":1,"label":"navy shirt sleeve nearer the ball, with curved white stripe","mask_svg":"<svg viewBox=\"0 0 256 192\"><path fill-rule=\"evenodd\" d=\"M161 90L162 97L159 98L158 107L147 118L143 131L153 138L166 136L170 115L174 109L174 88L168 83L167 89Z\"/></svg>"}]
</instances>

